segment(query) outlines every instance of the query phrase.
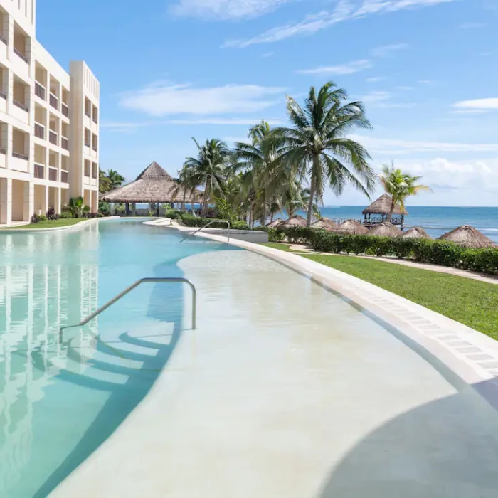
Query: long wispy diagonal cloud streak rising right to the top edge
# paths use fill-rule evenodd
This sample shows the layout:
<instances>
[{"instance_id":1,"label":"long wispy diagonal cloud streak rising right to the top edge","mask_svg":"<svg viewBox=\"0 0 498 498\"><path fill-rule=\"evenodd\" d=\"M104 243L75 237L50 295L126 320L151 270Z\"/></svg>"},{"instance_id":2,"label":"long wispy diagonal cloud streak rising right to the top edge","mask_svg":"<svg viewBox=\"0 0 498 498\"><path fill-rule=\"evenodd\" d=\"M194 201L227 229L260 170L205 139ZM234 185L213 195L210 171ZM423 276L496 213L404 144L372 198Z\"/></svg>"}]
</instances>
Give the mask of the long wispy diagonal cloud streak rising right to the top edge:
<instances>
[{"instance_id":1,"label":"long wispy diagonal cloud streak rising right to the top edge","mask_svg":"<svg viewBox=\"0 0 498 498\"><path fill-rule=\"evenodd\" d=\"M455 0L339 0L332 11L309 14L298 23L277 26L253 38L228 40L223 46L244 48L258 43L273 43L293 36L304 36L322 31L334 24L373 14L400 11L423 6L447 4Z\"/></svg>"}]
</instances>

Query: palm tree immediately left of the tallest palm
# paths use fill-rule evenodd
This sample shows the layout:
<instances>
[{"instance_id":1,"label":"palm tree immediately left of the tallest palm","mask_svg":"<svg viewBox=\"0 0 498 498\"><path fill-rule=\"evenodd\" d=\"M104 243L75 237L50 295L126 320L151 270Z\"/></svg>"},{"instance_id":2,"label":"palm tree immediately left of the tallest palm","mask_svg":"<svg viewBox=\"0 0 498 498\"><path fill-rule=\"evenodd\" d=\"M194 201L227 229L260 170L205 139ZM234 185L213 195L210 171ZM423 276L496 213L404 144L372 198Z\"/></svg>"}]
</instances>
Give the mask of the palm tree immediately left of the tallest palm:
<instances>
[{"instance_id":1,"label":"palm tree immediately left of the tallest palm","mask_svg":"<svg viewBox=\"0 0 498 498\"><path fill-rule=\"evenodd\" d=\"M235 143L234 168L247 173L243 189L254 191L255 200L260 202L258 211L266 221L267 211L275 190L281 186L279 180L280 158L282 156L282 135L273 132L270 125L262 121L249 130L251 144Z\"/></svg>"}]
</instances>

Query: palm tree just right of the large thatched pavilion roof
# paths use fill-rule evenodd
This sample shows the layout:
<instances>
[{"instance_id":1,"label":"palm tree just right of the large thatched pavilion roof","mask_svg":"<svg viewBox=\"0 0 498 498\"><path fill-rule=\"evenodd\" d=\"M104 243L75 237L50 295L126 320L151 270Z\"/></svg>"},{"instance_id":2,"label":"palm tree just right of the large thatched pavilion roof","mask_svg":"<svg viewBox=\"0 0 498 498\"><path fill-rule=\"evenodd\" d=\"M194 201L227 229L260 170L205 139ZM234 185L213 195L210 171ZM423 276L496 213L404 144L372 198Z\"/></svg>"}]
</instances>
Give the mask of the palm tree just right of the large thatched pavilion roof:
<instances>
[{"instance_id":1,"label":"palm tree just right of the large thatched pavilion roof","mask_svg":"<svg viewBox=\"0 0 498 498\"><path fill-rule=\"evenodd\" d=\"M187 157L181 174L189 189L203 186L203 216L206 216L213 198L224 197L223 187L231 152L227 144L218 139L206 140L202 146L196 139L193 140L197 157Z\"/></svg>"}]
</instances>

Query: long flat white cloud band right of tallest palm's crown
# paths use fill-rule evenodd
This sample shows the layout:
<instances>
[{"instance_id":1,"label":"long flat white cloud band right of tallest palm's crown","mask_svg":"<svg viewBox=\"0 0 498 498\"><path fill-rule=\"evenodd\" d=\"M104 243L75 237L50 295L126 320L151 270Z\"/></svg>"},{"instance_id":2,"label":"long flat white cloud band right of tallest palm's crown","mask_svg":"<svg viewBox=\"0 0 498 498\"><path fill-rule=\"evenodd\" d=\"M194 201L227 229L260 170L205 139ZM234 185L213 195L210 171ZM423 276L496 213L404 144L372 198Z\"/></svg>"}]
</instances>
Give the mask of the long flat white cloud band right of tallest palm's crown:
<instances>
[{"instance_id":1,"label":"long flat white cloud band right of tallest palm's crown","mask_svg":"<svg viewBox=\"0 0 498 498\"><path fill-rule=\"evenodd\" d=\"M351 135L369 152L382 153L418 153L418 152L498 152L498 144L465 144L454 142L424 142L417 140L399 140L369 137L366 135Z\"/></svg>"}]
</instances>

